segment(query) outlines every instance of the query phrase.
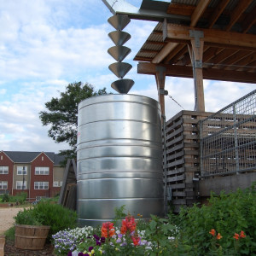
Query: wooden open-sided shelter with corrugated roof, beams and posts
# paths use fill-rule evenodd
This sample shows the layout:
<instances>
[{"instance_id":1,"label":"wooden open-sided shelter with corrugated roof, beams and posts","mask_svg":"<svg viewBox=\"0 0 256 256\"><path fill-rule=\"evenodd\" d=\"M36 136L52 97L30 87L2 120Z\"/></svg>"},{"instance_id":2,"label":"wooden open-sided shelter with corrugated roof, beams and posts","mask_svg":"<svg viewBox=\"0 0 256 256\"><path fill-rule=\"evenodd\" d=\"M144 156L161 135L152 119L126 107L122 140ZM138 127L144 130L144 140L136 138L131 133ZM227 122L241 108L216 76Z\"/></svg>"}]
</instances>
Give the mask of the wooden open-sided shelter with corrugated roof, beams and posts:
<instances>
[{"instance_id":1,"label":"wooden open-sided shelter with corrugated roof, beams and posts","mask_svg":"<svg viewBox=\"0 0 256 256\"><path fill-rule=\"evenodd\" d=\"M256 0L171 0L166 14L175 19L160 20L134 58L155 76L163 114L166 76L194 79L199 112L203 79L256 84Z\"/></svg>"}]
</instances>

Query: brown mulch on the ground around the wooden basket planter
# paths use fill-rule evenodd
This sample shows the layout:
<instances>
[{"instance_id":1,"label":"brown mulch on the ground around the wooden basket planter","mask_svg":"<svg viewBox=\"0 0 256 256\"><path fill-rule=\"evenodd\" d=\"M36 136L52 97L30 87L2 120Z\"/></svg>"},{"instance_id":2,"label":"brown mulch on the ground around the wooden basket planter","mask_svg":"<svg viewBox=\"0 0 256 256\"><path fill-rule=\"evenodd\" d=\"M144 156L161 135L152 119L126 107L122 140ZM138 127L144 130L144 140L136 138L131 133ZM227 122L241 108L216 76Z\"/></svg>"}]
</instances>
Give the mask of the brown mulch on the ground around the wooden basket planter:
<instances>
[{"instance_id":1,"label":"brown mulch on the ground around the wooden basket planter","mask_svg":"<svg viewBox=\"0 0 256 256\"><path fill-rule=\"evenodd\" d=\"M15 241L6 240L4 246L4 256L55 256L52 244L46 244L43 250L21 250L15 248Z\"/></svg>"}]
</instances>

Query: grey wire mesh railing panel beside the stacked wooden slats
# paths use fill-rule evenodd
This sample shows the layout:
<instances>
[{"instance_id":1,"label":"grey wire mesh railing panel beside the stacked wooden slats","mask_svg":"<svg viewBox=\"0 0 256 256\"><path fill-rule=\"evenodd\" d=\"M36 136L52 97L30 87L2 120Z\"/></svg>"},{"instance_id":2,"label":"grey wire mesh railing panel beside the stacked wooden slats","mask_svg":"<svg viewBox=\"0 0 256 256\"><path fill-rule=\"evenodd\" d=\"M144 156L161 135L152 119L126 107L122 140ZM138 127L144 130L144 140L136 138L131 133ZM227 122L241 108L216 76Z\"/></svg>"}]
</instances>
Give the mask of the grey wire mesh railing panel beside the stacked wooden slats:
<instances>
[{"instance_id":1,"label":"grey wire mesh railing panel beside the stacked wooden slats","mask_svg":"<svg viewBox=\"0 0 256 256\"><path fill-rule=\"evenodd\" d=\"M200 121L201 177L256 170L256 90Z\"/></svg>"}]
</instances>

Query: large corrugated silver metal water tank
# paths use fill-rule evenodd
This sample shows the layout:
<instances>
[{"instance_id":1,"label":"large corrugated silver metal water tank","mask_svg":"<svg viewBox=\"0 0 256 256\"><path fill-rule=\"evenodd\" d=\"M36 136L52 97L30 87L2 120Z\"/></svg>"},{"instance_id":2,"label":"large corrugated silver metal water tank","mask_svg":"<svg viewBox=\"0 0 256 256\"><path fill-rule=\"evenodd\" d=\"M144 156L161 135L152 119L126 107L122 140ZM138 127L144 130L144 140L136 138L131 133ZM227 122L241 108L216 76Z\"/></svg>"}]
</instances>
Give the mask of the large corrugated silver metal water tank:
<instances>
[{"instance_id":1,"label":"large corrugated silver metal water tank","mask_svg":"<svg viewBox=\"0 0 256 256\"><path fill-rule=\"evenodd\" d=\"M79 103L79 226L114 218L114 208L162 215L160 104L146 96L94 96Z\"/></svg>"}]
</instances>

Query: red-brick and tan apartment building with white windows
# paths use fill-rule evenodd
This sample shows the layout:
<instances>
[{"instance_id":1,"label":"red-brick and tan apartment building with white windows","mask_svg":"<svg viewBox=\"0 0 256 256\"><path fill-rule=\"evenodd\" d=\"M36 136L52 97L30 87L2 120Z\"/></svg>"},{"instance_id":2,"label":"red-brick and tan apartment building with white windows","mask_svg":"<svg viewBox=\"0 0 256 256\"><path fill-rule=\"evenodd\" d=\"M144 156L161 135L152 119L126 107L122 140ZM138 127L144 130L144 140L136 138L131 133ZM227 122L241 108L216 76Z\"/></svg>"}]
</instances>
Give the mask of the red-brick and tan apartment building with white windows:
<instances>
[{"instance_id":1,"label":"red-brick and tan apartment building with white windows","mask_svg":"<svg viewBox=\"0 0 256 256\"><path fill-rule=\"evenodd\" d=\"M0 194L24 191L31 200L60 193L64 156L53 152L0 151Z\"/></svg>"}]
</instances>

